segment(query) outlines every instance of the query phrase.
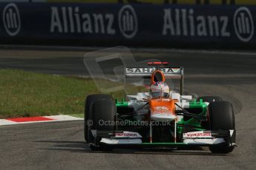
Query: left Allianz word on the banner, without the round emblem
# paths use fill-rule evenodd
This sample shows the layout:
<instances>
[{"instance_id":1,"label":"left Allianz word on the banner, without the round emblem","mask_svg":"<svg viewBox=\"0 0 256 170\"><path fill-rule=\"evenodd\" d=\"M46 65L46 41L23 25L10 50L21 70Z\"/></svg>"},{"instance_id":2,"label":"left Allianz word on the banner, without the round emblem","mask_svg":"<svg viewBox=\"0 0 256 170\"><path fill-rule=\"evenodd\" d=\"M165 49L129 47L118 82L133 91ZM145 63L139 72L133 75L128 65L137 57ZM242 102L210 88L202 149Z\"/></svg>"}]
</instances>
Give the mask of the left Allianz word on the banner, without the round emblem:
<instances>
[{"instance_id":1,"label":"left Allianz word on the banner, without the round emblem","mask_svg":"<svg viewBox=\"0 0 256 170\"><path fill-rule=\"evenodd\" d=\"M80 13L79 7L51 7L50 33L114 35L114 14Z\"/></svg>"}]
</instances>

